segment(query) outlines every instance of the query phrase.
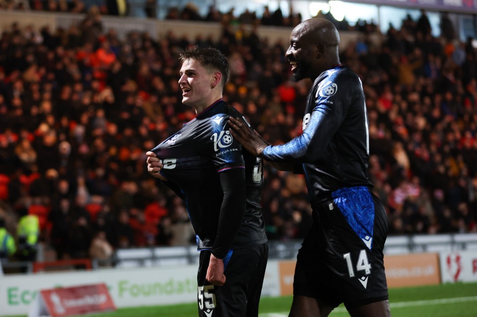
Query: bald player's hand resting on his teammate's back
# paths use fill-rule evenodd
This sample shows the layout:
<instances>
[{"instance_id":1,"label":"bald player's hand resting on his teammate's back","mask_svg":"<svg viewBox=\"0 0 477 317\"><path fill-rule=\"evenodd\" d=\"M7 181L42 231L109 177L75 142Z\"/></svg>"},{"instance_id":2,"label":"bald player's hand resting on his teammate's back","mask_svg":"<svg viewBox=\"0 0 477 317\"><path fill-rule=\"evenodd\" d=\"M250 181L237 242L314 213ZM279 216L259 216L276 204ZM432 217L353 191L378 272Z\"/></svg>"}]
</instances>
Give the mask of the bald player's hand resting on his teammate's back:
<instances>
[{"instance_id":1,"label":"bald player's hand resting on his teammate's back","mask_svg":"<svg viewBox=\"0 0 477 317\"><path fill-rule=\"evenodd\" d=\"M263 150L269 145L258 134L257 131L252 130L242 119L229 118L229 128L232 136L238 140L242 146L250 152L253 156L262 157Z\"/></svg>"}]
</instances>

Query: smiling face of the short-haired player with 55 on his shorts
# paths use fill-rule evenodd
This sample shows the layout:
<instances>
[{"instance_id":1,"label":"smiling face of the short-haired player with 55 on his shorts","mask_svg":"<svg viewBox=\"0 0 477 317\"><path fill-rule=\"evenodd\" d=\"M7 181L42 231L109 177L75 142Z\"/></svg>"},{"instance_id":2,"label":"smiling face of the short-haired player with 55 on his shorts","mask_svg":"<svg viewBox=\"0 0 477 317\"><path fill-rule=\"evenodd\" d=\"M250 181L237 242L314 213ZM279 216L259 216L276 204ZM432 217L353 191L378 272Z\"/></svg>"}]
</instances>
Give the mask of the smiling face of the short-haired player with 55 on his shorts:
<instances>
[{"instance_id":1,"label":"smiling face of the short-haired player with 55 on his shorts","mask_svg":"<svg viewBox=\"0 0 477 317\"><path fill-rule=\"evenodd\" d=\"M202 111L210 106L211 79L209 73L196 60L190 59L182 63L179 85L182 90L182 103Z\"/></svg>"}]
</instances>

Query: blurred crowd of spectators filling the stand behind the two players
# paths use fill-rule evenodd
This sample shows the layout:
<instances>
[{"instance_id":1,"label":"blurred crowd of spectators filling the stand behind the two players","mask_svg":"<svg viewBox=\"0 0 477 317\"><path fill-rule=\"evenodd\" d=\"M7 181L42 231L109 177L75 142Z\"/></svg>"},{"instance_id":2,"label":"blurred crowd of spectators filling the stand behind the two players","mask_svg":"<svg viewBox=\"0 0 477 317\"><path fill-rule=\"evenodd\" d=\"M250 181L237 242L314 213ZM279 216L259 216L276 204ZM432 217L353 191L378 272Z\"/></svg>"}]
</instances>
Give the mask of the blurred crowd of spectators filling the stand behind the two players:
<instances>
[{"instance_id":1,"label":"blurred crowd of spectators filling the stand behind the two players","mask_svg":"<svg viewBox=\"0 0 477 317\"><path fill-rule=\"evenodd\" d=\"M4 31L0 217L9 232L20 214L36 214L58 259L193 244L183 202L149 175L145 156L195 116L181 104L178 54L191 45L223 51L224 99L272 144L301 133L311 87L290 81L282 45L234 30L218 42L134 31L119 39L96 13L66 30ZM363 33L341 62L363 82L370 178L389 232L477 232L476 49L412 19L384 39ZM303 238L311 222L303 175L265 164L264 176L269 239Z\"/></svg>"}]
</instances>

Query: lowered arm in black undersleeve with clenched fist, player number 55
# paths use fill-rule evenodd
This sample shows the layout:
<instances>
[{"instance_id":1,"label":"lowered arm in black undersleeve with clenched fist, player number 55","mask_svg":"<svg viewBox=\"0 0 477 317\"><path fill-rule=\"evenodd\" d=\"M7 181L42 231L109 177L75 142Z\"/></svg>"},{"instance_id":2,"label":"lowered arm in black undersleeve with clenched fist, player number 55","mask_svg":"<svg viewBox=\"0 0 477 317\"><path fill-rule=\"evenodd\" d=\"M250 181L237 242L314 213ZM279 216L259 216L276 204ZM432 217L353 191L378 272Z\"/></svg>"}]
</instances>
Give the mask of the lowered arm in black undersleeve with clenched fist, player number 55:
<instances>
[{"instance_id":1,"label":"lowered arm in black undersleeve with clenched fist, player number 55","mask_svg":"<svg viewBox=\"0 0 477 317\"><path fill-rule=\"evenodd\" d=\"M220 209L219 226L215 238L206 279L214 285L224 285L223 258L229 252L245 213L245 169L234 168L220 173L224 199Z\"/></svg>"}]
</instances>

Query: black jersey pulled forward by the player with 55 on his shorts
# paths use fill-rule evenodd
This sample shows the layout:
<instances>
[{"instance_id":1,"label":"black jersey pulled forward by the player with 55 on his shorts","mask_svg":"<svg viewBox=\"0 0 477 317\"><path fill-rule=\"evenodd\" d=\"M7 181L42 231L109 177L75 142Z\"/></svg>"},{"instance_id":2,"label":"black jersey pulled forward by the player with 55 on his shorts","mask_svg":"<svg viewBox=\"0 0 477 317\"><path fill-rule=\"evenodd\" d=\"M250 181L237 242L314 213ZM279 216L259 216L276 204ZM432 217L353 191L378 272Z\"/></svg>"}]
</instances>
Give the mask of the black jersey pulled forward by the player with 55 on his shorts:
<instances>
[{"instance_id":1,"label":"black jersey pulled forward by the player with 55 on his shorts","mask_svg":"<svg viewBox=\"0 0 477 317\"><path fill-rule=\"evenodd\" d=\"M228 125L231 116L243 118L220 99L152 150L164 165L160 173L167 178L165 184L185 200L198 249L222 250L218 257L229 249L267 242L261 213L263 162L242 151L234 140ZM228 221L236 211L221 213L224 190L220 173L231 169L245 169L245 213L237 233L227 228L237 225ZM225 227L219 228L219 223ZM224 245L228 241L233 241L232 245Z\"/></svg>"}]
</instances>

